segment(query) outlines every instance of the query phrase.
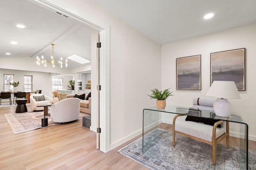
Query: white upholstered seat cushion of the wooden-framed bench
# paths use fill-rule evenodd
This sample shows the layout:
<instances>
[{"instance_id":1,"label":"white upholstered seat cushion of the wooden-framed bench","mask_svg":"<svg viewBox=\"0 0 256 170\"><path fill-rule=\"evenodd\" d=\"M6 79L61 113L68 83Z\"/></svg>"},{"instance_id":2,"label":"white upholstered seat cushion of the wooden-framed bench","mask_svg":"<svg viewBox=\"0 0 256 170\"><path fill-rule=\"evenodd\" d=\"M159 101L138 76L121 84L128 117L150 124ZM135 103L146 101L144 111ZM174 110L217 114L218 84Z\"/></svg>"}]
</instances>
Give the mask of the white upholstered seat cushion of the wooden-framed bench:
<instances>
[{"instance_id":1,"label":"white upholstered seat cushion of the wooden-framed bench","mask_svg":"<svg viewBox=\"0 0 256 170\"><path fill-rule=\"evenodd\" d=\"M188 135L212 142L212 125L194 121L179 121L175 123L175 130ZM225 128L216 128L216 139L225 133Z\"/></svg>"}]
</instances>

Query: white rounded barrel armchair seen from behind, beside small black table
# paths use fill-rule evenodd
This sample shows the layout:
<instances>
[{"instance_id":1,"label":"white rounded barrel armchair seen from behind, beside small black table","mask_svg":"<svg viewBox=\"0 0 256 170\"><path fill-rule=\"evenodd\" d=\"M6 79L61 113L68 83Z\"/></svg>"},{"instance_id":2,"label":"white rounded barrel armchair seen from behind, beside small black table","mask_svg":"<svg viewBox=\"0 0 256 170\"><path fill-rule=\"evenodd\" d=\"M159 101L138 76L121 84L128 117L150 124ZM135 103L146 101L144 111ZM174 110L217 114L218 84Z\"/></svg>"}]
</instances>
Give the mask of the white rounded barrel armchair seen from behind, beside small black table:
<instances>
[{"instance_id":1,"label":"white rounded barrel armchair seen from behind, beside small black table","mask_svg":"<svg viewBox=\"0 0 256 170\"><path fill-rule=\"evenodd\" d=\"M80 117L80 100L68 98L51 106L51 118L56 123L75 121Z\"/></svg>"}]
</instances>

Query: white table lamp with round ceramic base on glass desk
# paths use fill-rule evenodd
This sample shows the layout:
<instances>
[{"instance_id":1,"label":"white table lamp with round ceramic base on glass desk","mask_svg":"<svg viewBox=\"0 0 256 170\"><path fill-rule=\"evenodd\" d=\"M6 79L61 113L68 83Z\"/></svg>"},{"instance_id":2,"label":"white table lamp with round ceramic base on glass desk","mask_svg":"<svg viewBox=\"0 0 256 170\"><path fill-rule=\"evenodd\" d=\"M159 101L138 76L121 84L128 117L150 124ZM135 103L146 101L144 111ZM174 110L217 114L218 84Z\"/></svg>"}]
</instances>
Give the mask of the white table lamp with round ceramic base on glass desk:
<instances>
[{"instance_id":1,"label":"white table lamp with round ceramic base on glass desk","mask_svg":"<svg viewBox=\"0 0 256 170\"><path fill-rule=\"evenodd\" d=\"M240 99L236 84L232 81L214 81L206 96L220 98L214 102L213 109L221 117L228 117L231 113L231 104L224 98Z\"/></svg>"}]
</instances>

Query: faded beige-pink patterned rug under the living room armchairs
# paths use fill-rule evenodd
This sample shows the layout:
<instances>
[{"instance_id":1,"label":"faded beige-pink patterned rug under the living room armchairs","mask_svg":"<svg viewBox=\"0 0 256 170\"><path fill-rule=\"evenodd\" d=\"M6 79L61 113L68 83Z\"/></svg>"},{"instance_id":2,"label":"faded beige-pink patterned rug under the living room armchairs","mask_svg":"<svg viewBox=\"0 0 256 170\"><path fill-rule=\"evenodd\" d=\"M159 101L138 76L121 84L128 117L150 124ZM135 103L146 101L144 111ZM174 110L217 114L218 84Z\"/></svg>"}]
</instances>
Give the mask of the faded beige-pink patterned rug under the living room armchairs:
<instances>
[{"instance_id":1,"label":"faded beige-pink patterned rug under the living room armchairs","mask_svg":"<svg viewBox=\"0 0 256 170\"><path fill-rule=\"evenodd\" d=\"M86 115L88 114L80 112L79 119L82 119L82 117ZM26 113L9 113L9 114L4 114L4 116L6 117L6 120L8 121L14 134L32 131L38 128L44 128L42 127L42 121L41 121L41 119L44 117L43 111L26 112ZM46 115L46 117L48 117L47 127L60 124L52 121L50 116L50 110L48 112L48 115Z\"/></svg>"}]
</instances>

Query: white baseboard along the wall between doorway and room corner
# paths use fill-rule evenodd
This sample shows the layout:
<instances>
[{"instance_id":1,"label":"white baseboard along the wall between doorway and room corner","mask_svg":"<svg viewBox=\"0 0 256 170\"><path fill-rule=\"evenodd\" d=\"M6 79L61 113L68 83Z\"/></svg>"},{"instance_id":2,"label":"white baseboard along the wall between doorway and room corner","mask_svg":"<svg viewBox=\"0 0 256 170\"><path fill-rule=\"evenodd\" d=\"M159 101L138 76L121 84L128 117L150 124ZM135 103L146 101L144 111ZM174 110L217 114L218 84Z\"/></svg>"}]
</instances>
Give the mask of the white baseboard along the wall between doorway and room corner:
<instances>
[{"instance_id":1,"label":"white baseboard along the wall between doorway and room corner","mask_svg":"<svg viewBox=\"0 0 256 170\"><path fill-rule=\"evenodd\" d=\"M147 127L144 128L144 131L148 131L149 129L158 126L159 122L155 122L152 123L151 125L148 125ZM136 131L135 133L132 133L131 135L128 135L122 139L120 139L119 141L115 142L115 143L111 143L110 144L110 150L122 145L123 143L126 143L127 141L133 139L134 137L138 136L138 135L142 135L142 129Z\"/></svg>"}]
</instances>

